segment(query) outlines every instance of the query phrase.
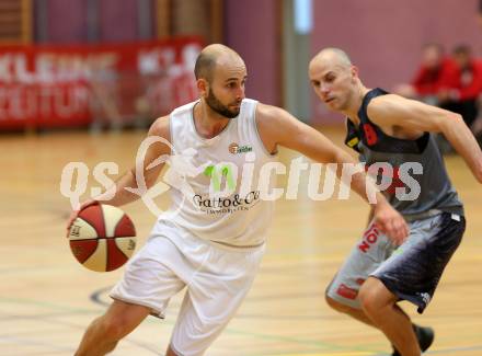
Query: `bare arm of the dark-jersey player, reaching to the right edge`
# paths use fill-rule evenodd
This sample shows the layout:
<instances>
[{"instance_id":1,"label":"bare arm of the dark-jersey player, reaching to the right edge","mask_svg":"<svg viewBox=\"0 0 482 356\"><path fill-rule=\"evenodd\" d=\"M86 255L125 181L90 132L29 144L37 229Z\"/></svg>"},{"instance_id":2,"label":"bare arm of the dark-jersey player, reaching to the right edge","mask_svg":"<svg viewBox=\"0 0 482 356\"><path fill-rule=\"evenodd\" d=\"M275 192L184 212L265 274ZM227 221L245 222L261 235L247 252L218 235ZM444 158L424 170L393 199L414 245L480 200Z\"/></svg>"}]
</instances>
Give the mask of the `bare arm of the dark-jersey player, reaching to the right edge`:
<instances>
[{"instance_id":1,"label":"bare arm of the dark-jersey player, reaching to the right edge","mask_svg":"<svg viewBox=\"0 0 482 356\"><path fill-rule=\"evenodd\" d=\"M482 151L459 114L418 101L388 94L374 99L368 116L380 127L398 126L416 131L441 133L482 183Z\"/></svg>"}]
</instances>

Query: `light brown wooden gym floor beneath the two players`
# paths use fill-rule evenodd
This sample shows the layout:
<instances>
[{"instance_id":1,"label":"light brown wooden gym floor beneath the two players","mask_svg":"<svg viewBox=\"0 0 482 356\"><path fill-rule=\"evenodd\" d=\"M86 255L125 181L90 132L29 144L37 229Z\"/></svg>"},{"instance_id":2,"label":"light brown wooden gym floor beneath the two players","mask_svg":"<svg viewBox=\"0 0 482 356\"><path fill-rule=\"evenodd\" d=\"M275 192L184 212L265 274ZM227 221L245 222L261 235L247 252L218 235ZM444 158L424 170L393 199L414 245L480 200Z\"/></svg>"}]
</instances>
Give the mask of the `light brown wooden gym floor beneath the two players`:
<instances>
[{"instance_id":1,"label":"light brown wooden gym floor beneath the two players","mask_svg":"<svg viewBox=\"0 0 482 356\"><path fill-rule=\"evenodd\" d=\"M342 145L340 129L325 134ZM85 326L104 311L106 292L123 269L93 273L73 260L65 239L70 208L59 191L60 174L70 161L85 162L91 172L101 161L114 161L123 172L142 138L134 131L0 137L0 355L72 355ZM297 154L280 157L288 162ZM482 187L459 157L446 162L466 204L464 241L424 315L403 306L416 322L435 328L429 355L482 355ZM89 179L96 185L92 174ZM156 217L141 203L125 210L142 244ZM279 200L255 284L207 355L388 355L378 331L335 313L323 299L367 211L358 197L311 202L300 194ZM171 301L165 321L149 317L113 355L162 354L180 300Z\"/></svg>"}]
</instances>

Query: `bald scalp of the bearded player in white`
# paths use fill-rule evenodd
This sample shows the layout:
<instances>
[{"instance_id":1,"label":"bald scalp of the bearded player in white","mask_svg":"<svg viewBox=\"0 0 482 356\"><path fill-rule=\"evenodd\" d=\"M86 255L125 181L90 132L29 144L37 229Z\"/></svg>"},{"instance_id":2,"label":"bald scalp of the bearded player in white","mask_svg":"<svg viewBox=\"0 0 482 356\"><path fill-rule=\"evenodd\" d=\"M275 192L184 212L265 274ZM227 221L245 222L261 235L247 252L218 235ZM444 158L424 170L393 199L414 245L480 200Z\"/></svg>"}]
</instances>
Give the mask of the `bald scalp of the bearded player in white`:
<instances>
[{"instance_id":1,"label":"bald scalp of the bearded player in white","mask_svg":"<svg viewBox=\"0 0 482 356\"><path fill-rule=\"evenodd\" d=\"M228 46L214 44L205 47L196 59L194 74L197 79L213 81L213 73L217 65L229 62L243 62L240 55Z\"/></svg>"}]
</instances>

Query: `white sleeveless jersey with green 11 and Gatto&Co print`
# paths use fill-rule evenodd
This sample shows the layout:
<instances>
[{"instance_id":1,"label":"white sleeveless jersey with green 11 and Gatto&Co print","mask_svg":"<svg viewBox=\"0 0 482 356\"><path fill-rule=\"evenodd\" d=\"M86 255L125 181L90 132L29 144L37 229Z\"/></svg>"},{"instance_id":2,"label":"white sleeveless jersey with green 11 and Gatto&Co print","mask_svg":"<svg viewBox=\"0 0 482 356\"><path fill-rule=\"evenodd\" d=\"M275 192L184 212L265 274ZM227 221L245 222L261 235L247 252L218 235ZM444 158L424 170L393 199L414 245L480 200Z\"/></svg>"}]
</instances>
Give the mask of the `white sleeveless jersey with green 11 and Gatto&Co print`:
<instances>
[{"instance_id":1,"label":"white sleeveless jersey with green 11 and Gatto&Co print","mask_svg":"<svg viewBox=\"0 0 482 356\"><path fill-rule=\"evenodd\" d=\"M265 194L274 186L275 157L257 133L257 102L243 100L240 114L210 139L196 131L196 103L170 115L173 156L164 180L172 186L172 204L159 221L228 246L261 245L274 208Z\"/></svg>"}]
</instances>

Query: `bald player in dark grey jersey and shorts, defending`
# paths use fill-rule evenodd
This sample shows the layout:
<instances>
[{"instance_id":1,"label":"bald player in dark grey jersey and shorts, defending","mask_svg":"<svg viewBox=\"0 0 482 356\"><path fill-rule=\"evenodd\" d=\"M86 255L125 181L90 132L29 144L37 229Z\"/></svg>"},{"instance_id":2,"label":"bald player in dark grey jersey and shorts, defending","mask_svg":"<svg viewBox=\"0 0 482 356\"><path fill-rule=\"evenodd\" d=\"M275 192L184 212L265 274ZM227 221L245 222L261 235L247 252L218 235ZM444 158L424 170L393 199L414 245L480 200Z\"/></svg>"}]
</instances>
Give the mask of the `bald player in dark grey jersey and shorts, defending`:
<instances>
[{"instance_id":1,"label":"bald player in dark grey jersey and shorts, defending","mask_svg":"<svg viewBox=\"0 0 482 356\"><path fill-rule=\"evenodd\" d=\"M369 223L328 287L328 303L381 330L393 355L420 355L432 344L433 330L412 324L397 303L408 300L423 312L466 227L463 206L431 133L444 134L480 183L482 152L460 115L366 88L338 48L321 50L309 77L328 108L346 116L345 143L380 186L389 182L383 194L411 228L397 246Z\"/></svg>"}]
</instances>

